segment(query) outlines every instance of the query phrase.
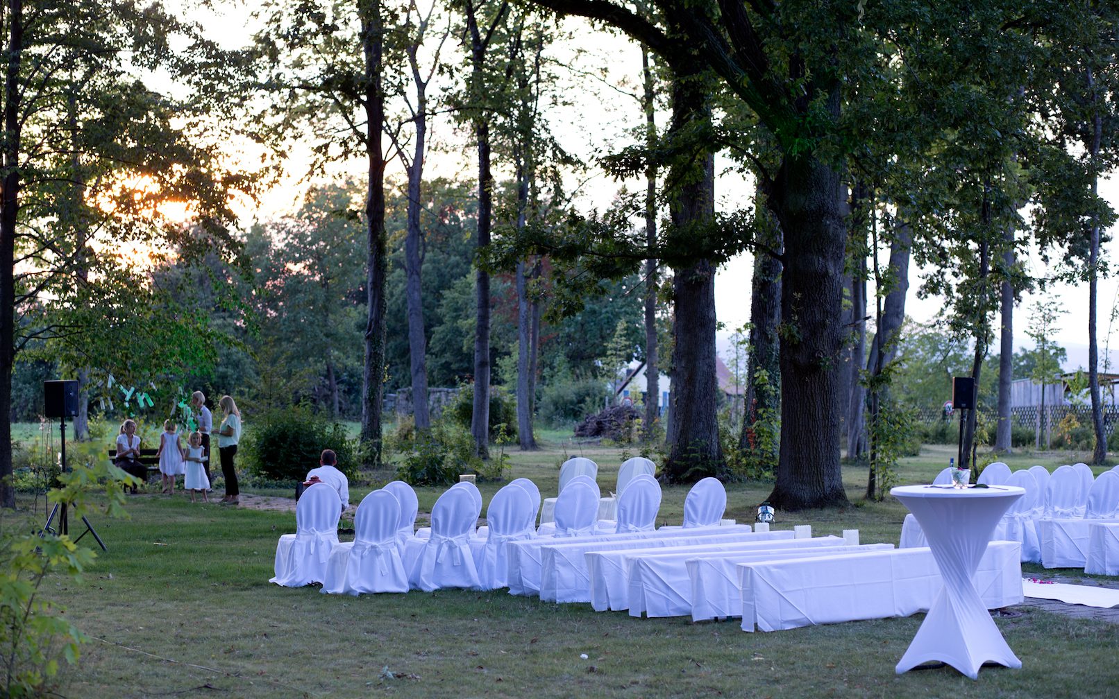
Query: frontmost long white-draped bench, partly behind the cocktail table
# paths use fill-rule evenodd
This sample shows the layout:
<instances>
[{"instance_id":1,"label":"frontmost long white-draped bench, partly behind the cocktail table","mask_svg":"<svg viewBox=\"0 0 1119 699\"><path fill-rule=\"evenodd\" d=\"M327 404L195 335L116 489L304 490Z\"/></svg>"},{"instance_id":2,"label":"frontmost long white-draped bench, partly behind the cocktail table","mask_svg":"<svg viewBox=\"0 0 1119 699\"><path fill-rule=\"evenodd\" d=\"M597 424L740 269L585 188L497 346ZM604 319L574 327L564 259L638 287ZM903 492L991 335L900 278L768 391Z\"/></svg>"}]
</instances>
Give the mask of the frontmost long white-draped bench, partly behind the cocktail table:
<instances>
[{"instance_id":1,"label":"frontmost long white-draped bench, partly behind the cocktail table","mask_svg":"<svg viewBox=\"0 0 1119 699\"><path fill-rule=\"evenodd\" d=\"M744 631L909 616L931 610L944 589L928 548L747 563L737 573ZM1021 577L1018 545L991 542L976 575L981 614L1021 603Z\"/></svg>"}]
</instances>

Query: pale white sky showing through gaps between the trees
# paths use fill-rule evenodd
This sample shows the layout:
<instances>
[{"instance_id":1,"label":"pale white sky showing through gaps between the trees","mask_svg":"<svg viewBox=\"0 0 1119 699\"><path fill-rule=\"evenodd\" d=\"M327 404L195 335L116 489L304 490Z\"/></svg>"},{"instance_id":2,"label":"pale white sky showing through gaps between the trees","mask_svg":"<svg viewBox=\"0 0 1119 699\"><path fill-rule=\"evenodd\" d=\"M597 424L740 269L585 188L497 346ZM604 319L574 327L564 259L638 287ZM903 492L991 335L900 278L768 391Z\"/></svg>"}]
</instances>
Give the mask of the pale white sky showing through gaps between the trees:
<instances>
[{"instance_id":1,"label":"pale white sky showing through gaps between the trees","mask_svg":"<svg viewBox=\"0 0 1119 699\"><path fill-rule=\"evenodd\" d=\"M189 1L189 0L185 0ZM206 18L207 30L213 38L228 47L241 45L248 40L252 34L251 13L258 0L244 2L219 3L210 10L194 10L195 17ZM198 15L197 12L203 12ZM207 15L208 18L207 18ZM574 31L575 38L554 51L558 63L572 65L584 72L595 72L606 66L605 74L594 78L571 77L561 85L558 93L566 104L561 104L548 111L548 120L561 143L572 153L584 158L609 152L612 145L628 143L626 132L638 125L641 112L637 100L627 95L639 84L641 58L636 45L613 35L608 35L589 27L579 19L566 19L564 26ZM460 50L452 40L444 51ZM445 54L444 54L445 55ZM658 126L664 126L667 114L661 111L657 115ZM451 144L463 142L467 134L454 133L448 123L434 123L432 140L444 147L443 152L435 152L426 164L430 176L471 177L474 163L471 160L471 149L454 149ZM469 138L469 136L467 136ZM241 211L243 225L247 227L254 220L269 220L289 212L299 198L292 196L293 190L305 188L300 179L305 170L305 144L293 149L289 162L289 176L285 181L267 192L258 206L244 207ZM360 174L360 163L350 167L340 163L338 172ZM752 185L734 171L733 163L724 159L716 161L720 172L716 180L716 206L720 210L732 211L750 206ZM403 179L398 164L389 166L389 177ZM499 173L498 177L501 177ZM601 170L593 169L579 176L570 176L565 186L575 193L579 208L586 211L592 208L602 209L609 206L611 199L622 185L630 189L643 189L643 182L632 181L619 183L606 178ZM1119 208L1119 181L1116 178L1100 183L1101 195ZM1112 230L1112 236L1116 232ZM1103 259L1117 259L1119 240L1107 244L1102 251ZM752 256L740 255L720 268L715 281L716 315L724 324L720 333L720 352L726 355L730 333L750 320L750 280L752 275ZM1036 251L1033 251L1027 263L1029 273L1035 276L1047 276L1052 270L1046 268ZM931 274L930 271L911 270L911 292L906 299L906 315L920 322L934 320L943 306L943 299L930 296L919 299L915 290ZM872 291L873 293L873 291ZM1054 284L1046 291L1046 296L1060 300L1063 313L1056 321L1055 339L1069 353L1065 369L1074 370L1088 365L1088 287L1087 284L1073 286ZM873 296L872 296L873 299ZM1025 294L1015 310L1015 348L1032 347L1032 340L1026 336L1029 314L1035 308L1038 296ZM1119 319L1111 321L1112 310L1119 304L1119 276L1103 278L1099 283L1099 327L1101 362L1104 350L1110 346L1116 349L1110 352L1111 363L1119 367ZM993 351L998 351L997 344ZM1102 370L1101 366L1101 370Z\"/></svg>"}]
</instances>

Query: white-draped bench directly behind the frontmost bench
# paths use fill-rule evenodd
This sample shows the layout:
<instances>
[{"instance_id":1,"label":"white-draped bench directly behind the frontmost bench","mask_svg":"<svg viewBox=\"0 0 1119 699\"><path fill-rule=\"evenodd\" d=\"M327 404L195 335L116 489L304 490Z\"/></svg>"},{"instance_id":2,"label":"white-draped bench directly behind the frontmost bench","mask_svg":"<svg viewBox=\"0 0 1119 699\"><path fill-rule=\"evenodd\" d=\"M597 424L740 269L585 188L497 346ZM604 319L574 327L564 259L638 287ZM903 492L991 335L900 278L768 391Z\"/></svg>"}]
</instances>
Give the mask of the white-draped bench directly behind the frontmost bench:
<instances>
[{"instance_id":1,"label":"white-draped bench directly behind the frontmost bench","mask_svg":"<svg viewBox=\"0 0 1119 699\"><path fill-rule=\"evenodd\" d=\"M841 541L841 539L840 539ZM786 558L802 558L808 555L824 556L821 551L834 550L839 545L812 546L781 549L780 555L771 555L768 559L743 559L741 554L720 558L716 556L697 556L685 563L688 574L688 588L692 607L692 621L725 618L739 616L742 613L742 586L739 583L739 564L760 560L781 560ZM852 551L863 550L859 545L848 546ZM892 544L867 544L866 550L893 550ZM634 570L636 573L636 570ZM631 599L631 602L633 602ZM632 612L631 612L632 613Z\"/></svg>"}]
</instances>

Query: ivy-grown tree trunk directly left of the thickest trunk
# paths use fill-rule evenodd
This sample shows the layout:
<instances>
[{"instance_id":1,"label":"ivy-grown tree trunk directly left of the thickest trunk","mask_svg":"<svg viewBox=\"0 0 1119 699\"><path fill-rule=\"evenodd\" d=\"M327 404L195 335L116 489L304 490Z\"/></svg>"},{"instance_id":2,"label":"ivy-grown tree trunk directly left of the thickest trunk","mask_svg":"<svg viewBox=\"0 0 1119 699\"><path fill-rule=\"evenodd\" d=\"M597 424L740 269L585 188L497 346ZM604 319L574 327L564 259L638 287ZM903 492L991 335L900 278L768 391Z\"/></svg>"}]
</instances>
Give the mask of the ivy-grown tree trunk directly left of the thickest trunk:
<instances>
[{"instance_id":1,"label":"ivy-grown tree trunk directly left of the thickest trunk","mask_svg":"<svg viewBox=\"0 0 1119 699\"><path fill-rule=\"evenodd\" d=\"M753 278L750 287L750 353L746 357L746 396L739 447L758 446L755 425L764 415L774 421L781 409L781 254L783 240L777 221L768 215L763 199L755 207L759 217L754 246ZM761 380L761 371L765 372ZM773 454L777 457L777 454Z\"/></svg>"}]
</instances>

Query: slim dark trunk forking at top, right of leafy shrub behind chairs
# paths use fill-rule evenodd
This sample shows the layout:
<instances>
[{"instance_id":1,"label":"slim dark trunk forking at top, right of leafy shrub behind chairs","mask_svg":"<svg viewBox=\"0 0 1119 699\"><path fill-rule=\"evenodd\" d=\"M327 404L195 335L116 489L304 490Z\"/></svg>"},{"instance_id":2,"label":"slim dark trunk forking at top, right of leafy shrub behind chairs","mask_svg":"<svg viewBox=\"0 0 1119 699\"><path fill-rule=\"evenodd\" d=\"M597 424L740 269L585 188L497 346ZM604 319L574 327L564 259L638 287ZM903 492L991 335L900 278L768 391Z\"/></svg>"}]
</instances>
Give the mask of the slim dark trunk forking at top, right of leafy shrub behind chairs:
<instances>
[{"instance_id":1,"label":"slim dark trunk forking at top, right of leafy shrub behind chairs","mask_svg":"<svg viewBox=\"0 0 1119 699\"><path fill-rule=\"evenodd\" d=\"M478 27L473 2L466 3L467 29L470 32L470 62L473 88L481 91L485 85L486 49L489 36L482 37ZM501 10L504 12L504 8ZM500 17L500 15L499 15ZM499 18L495 21L499 21ZM477 95L476 95L477 97ZM478 144L478 248L490 244L490 227L493 210L493 176L490 173L490 135L486 112L478 110L474 116L474 139ZM470 416L470 434L474 438L474 452L482 459L489 457L489 394L490 394L490 291L489 273L478 267L474 277L474 396Z\"/></svg>"}]
</instances>

